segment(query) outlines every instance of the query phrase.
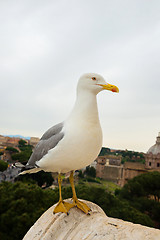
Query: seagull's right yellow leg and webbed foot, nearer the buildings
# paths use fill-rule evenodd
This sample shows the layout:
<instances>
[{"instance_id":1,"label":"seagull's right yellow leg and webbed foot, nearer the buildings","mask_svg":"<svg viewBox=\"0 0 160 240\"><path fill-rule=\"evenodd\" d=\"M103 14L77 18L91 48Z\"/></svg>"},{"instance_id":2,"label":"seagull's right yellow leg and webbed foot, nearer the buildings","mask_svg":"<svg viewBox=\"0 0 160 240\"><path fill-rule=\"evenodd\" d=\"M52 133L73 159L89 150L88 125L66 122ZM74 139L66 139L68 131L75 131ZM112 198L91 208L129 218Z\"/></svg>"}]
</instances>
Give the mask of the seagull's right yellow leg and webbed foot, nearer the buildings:
<instances>
[{"instance_id":1,"label":"seagull's right yellow leg and webbed foot, nearer the buildings","mask_svg":"<svg viewBox=\"0 0 160 240\"><path fill-rule=\"evenodd\" d=\"M77 195L76 195L76 190L74 187L74 178L73 178L73 171L71 171L70 177L69 177L69 181L72 187L72 193L73 193L73 204L74 206L78 207L79 209L81 209L83 212L85 212L86 214L88 214L91 209L87 206L87 204L81 202L78 200Z\"/></svg>"}]
</instances>

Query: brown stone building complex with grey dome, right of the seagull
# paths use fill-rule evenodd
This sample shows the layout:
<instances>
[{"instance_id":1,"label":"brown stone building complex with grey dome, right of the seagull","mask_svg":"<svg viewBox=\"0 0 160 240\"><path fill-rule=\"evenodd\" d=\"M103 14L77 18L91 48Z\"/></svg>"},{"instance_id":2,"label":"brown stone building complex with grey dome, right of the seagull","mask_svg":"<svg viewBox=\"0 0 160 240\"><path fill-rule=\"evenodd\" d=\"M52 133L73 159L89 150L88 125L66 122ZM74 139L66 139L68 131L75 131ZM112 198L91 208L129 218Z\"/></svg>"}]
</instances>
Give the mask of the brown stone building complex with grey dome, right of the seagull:
<instances>
[{"instance_id":1,"label":"brown stone building complex with grey dome, right of the seagull","mask_svg":"<svg viewBox=\"0 0 160 240\"><path fill-rule=\"evenodd\" d=\"M156 143L145 154L145 164L125 162L121 165L121 158L115 155L97 158L96 177L113 181L121 186L142 173L160 171L160 133Z\"/></svg>"}]
</instances>

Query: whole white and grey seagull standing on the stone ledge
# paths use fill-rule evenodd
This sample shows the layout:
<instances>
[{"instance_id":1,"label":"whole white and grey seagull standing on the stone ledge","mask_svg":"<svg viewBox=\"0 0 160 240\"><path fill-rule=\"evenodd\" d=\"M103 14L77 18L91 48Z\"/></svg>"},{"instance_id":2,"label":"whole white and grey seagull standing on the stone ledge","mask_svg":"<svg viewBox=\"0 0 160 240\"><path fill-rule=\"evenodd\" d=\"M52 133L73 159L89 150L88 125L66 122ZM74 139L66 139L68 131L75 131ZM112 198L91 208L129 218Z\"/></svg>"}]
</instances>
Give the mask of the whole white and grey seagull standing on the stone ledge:
<instances>
[{"instance_id":1,"label":"whole white and grey seagull standing on the stone ledge","mask_svg":"<svg viewBox=\"0 0 160 240\"><path fill-rule=\"evenodd\" d=\"M91 209L78 200L74 187L74 171L90 165L102 148L102 130L98 116L96 95L102 90L119 92L118 87L107 83L96 73L82 75L77 84L76 102L69 117L46 131L26 168L22 172L38 171L57 172L59 184L59 202L53 213L68 211L76 206L88 214ZM69 180L72 187L73 203L62 199L62 173L70 172Z\"/></svg>"}]
</instances>

